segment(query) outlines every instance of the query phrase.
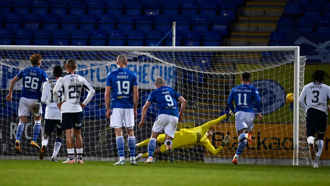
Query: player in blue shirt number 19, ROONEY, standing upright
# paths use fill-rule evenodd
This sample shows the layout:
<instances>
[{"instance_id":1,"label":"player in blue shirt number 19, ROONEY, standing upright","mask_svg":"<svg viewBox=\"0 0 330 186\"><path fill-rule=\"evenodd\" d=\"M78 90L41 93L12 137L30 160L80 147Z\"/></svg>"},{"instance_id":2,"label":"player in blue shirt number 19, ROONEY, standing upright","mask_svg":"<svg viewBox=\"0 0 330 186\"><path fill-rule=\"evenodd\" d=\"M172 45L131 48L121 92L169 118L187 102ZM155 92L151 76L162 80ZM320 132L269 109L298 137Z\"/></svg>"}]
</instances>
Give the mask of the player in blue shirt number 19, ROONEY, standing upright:
<instances>
[{"instance_id":1,"label":"player in blue shirt number 19, ROONEY, standing upright","mask_svg":"<svg viewBox=\"0 0 330 186\"><path fill-rule=\"evenodd\" d=\"M110 126L115 128L119 161L114 165L125 165L124 138L122 127L126 128L131 165L138 165L135 161L135 143L133 127L137 117L138 81L136 74L126 69L125 55L117 57L117 69L108 73L105 89L105 103ZM111 93L111 95L110 95Z\"/></svg>"}]
</instances>

